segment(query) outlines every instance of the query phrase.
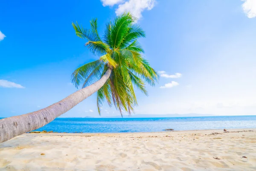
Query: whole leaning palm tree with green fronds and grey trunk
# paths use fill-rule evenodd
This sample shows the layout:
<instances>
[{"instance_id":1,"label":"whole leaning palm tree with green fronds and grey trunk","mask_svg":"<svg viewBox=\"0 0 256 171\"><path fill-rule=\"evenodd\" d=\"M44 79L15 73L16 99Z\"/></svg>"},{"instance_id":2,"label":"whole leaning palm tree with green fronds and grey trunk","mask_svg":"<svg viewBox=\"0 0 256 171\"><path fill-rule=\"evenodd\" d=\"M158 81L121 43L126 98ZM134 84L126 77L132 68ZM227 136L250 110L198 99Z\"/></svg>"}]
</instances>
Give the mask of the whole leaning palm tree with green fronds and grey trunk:
<instances>
[{"instance_id":1,"label":"whole leaning palm tree with green fronds and grey trunk","mask_svg":"<svg viewBox=\"0 0 256 171\"><path fill-rule=\"evenodd\" d=\"M158 79L157 72L141 55L144 50L137 39L145 37L145 32L135 21L130 13L116 17L113 23L107 23L103 38L99 37L97 20L90 21L90 29L72 23L76 35L87 39L85 45L100 56L73 72L72 82L82 89L44 109L0 119L0 142L43 127L96 91L99 114L105 99L121 115L122 110L131 114L137 105L134 87L147 95L145 83L154 86Z\"/></svg>"}]
</instances>

